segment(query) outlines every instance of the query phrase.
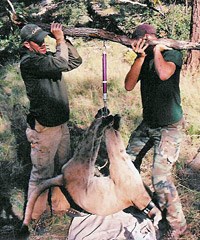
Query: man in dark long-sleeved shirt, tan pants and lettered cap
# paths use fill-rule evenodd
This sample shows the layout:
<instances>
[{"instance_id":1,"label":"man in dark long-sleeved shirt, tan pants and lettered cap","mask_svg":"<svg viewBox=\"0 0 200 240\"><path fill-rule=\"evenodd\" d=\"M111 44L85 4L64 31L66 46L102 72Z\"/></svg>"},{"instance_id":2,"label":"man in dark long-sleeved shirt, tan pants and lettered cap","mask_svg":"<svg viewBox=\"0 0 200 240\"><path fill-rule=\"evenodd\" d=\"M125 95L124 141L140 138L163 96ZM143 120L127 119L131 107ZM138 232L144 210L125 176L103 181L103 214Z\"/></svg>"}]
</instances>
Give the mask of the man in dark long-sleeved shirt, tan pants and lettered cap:
<instances>
[{"instance_id":1,"label":"man in dark long-sleeved shirt, tan pants and lettered cap","mask_svg":"<svg viewBox=\"0 0 200 240\"><path fill-rule=\"evenodd\" d=\"M37 183L57 175L70 156L70 135L67 126L69 103L62 72L77 68L82 59L73 45L64 38L62 25L51 24L55 53L47 52L48 32L35 24L21 29L22 54L20 70L30 101L27 138L31 143L32 171L28 198ZM32 219L36 222L47 207L48 191L38 198ZM69 208L59 188L52 190L52 209L63 213Z\"/></svg>"}]
</instances>

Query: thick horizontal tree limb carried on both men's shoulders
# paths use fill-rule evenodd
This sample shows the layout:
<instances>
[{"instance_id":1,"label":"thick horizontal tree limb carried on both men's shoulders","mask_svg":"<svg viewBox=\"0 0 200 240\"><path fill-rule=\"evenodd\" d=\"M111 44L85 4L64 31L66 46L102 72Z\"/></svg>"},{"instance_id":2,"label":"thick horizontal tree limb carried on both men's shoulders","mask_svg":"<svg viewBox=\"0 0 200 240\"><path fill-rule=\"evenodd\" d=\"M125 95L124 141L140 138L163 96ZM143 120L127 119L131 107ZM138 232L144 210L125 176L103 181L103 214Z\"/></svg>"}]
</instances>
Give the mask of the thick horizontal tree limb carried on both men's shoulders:
<instances>
[{"instance_id":1,"label":"thick horizontal tree limb carried on both men's shoulders","mask_svg":"<svg viewBox=\"0 0 200 240\"><path fill-rule=\"evenodd\" d=\"M49 26L46 24L38 24L43 29L49 31ZM64 34L66 36L71 37L90 37L97 38L102 40L109 40L112 42L117 42L127 47L131 46L133 39L127 37L126 35L117 35L113 32L108 32L103 29L95 29L95 28L64 28ZM156 45L158 43L165 44L168 47L178 49L178 50L200 50L200 43L196 42L187 42L187 41L178 41L173 39L164 39L160 38L158 40L150 41L150 45Z\"/></svg>"}]
</instances>

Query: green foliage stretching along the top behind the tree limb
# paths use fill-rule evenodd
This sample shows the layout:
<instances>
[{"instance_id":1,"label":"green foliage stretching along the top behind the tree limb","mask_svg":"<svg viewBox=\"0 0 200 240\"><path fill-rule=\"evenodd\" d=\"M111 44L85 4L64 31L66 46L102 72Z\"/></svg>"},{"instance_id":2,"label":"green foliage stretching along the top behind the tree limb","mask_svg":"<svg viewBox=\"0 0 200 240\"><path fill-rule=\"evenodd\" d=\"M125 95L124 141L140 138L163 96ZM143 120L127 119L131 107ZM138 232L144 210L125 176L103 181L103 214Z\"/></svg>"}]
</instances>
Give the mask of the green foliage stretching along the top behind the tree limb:
<instances>
[{"instance_id":1,"label":"green foliage stretching along the top behind the tree limb","mask_svg":"<svg viewBox=\"0 0 200 240\"><path fill-rule=\"evenodd\" d=\"M92 19L94 19L92 27L101 27L104 29L111 24L111 21L114 21L117 27L130 37L138 24L148 22L157 27L160 37L189 40L191 7L188 7L189 4L186 6L184 1L178 1L177 3L160 0L140 1L140 3L146 4L146 6L131 3L118 4L114 0L96 1L102 10L114 9L113 17L112 14L108 14L108 18L104 18L101 24L99 21L95 22L94 16L89 15L87 1L71 0L61 4L57 0L55 3L58 3L56 10L47 13L42 21L48 23L57 21L61 22L64 26L74 27L88 26L92 22ZM13 2L13 6L22 21L25 19L27 22L40 21L38 12L41 11L41 7L39 4L25 6L24 2L21 1ZM152 7L157 8L160 12L154 11ZM161 15L161 13L164 13L164 15ZM6 31L3 31L3 33L0 31L1 49L5 49L8 52L7 58L13 58L16 61L19 60L19 28L11 23L8 15L8 13L4 13L0 22L0 30L1 27L6 26ZM114 26L116 26L115 24ZM6 57L1 59L1 64L7 61Z\"/></svg>"}]
</instances>

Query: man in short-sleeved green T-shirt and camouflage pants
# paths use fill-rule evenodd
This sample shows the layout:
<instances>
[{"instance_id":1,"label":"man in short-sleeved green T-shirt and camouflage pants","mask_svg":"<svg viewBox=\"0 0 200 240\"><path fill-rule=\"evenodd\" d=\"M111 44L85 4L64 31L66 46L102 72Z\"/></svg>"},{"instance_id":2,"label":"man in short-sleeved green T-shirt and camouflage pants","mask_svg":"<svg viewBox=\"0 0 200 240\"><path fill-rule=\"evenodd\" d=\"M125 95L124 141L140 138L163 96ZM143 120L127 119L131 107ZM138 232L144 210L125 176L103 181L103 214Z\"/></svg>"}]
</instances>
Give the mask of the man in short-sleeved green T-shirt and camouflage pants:
<instances>
[{"instance_id":1,"label":"man in short-sleeved green T-shirt and camouflage pants","mask_svg":"<svg viewBox=\"0 0 200 240\"><path fill-rule=\"evenodd\" d=\"M125 89L131 91L138 81L141 86L143 121L132 133L128 146L135 166L140 169L142 158L154 147L152 182L158 204L171 228L171 237L186 230L171 170L177 161L184 128L179 79L182 55L165 45L150 46L155 40L152 25L139 25L133 33L132 49L137 57L125 78Z\"/></svg>"}]
</instances>

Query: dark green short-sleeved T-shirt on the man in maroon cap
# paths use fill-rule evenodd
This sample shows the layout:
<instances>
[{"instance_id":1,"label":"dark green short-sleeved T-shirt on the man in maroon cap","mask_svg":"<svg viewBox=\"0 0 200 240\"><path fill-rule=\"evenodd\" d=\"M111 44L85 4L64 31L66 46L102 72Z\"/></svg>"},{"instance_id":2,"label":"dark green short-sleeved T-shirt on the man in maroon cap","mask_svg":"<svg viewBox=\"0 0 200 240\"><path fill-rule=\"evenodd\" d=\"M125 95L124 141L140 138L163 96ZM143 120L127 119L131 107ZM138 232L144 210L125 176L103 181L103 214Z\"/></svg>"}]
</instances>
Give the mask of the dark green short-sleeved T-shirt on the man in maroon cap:
<instances>
[{"instance_id":1,"label":"dark green short-sleeved T-shirt on the man in maroon cap","mask_svg":"<svg viewBox=\"0 0 200 240\"><path fill-rule=\"evenodd\" d=\"M182 54L177 50L164 51L163 57L176 65L175 73L165 81L159 79L152 56L147 56L140 73L143 119L152 127L178 122L182 116L180 71Z\"/></svg>"}]
</instances>

